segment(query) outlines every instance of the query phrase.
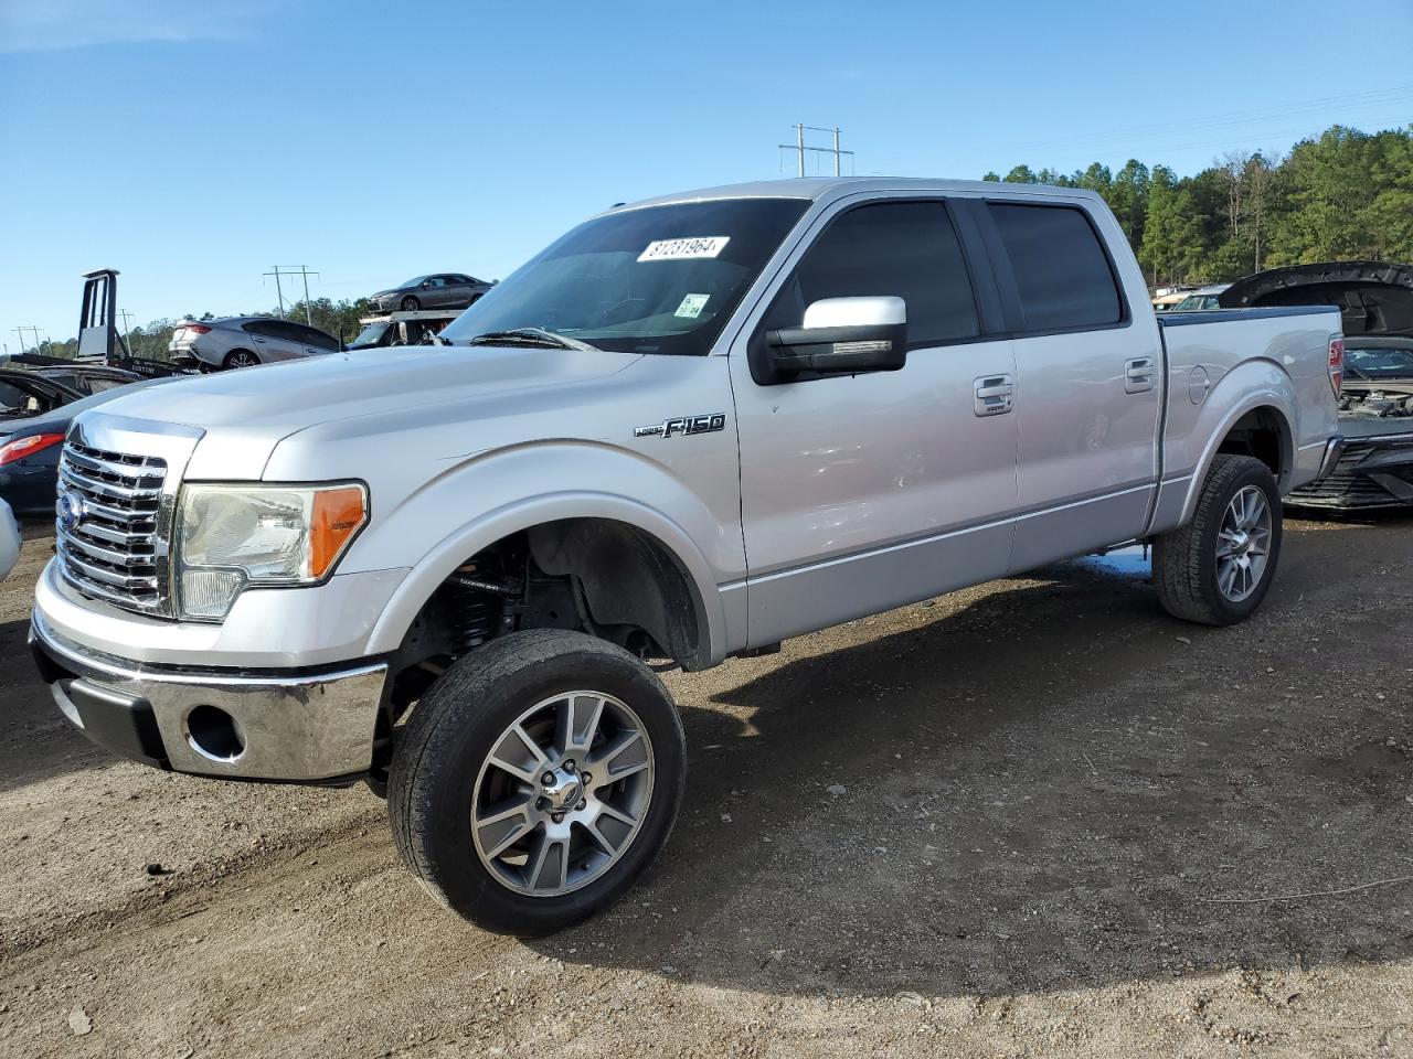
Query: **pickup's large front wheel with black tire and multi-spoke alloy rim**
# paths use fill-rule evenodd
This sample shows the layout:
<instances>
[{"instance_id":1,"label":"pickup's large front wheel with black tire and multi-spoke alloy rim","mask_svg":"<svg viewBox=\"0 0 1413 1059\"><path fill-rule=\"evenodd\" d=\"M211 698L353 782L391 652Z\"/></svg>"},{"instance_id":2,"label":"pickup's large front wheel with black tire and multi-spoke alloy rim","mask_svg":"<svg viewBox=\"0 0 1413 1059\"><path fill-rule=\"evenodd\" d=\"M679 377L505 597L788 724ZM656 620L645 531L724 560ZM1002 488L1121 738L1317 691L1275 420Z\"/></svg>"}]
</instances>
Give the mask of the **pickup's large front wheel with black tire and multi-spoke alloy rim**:
<instances>
[{"instance_id":1,"label":"pickup's large front wheel with black tire and multi-spoke alloy rim","mask_svg":"<svg viewBox=\"0 0 1413 1059\"><path fill-rule=\"evenodd\" d=\"M544 727L541 714L554 723ZM567 729L598 736L588 736L592 747L571 744L562 754L543 746L562 741ZM538 762L524 737L541 743ZM619 748L605 757L605 747ZM574 789L571 779L585 772L582 792ZM544 782L550 777L554 788ZM667 842L685 777L681 720L651 669L582 633L531 630L463 655L422 695L393 751L387 815L397 851L432 897L487 931L537 938L586 919L633 885ZM550 810L565 796L581 801L557 819ZM608 816L605 805L625 818L636 810L636 823ZM575 837L561 846L557 833Z\"/></svg>"}]
</instances>

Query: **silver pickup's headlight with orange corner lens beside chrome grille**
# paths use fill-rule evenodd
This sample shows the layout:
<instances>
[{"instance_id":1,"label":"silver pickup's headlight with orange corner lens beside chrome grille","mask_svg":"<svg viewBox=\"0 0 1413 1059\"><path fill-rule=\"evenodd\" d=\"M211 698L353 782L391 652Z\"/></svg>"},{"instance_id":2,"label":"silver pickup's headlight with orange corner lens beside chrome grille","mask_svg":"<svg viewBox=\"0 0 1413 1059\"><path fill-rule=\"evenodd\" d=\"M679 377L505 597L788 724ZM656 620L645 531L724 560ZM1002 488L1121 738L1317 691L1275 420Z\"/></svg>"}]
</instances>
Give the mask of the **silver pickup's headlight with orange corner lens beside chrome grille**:
<instances>
[{"instance_id":1,"label":"silver pickup's headlight with orange corner lens beside chrome grille","mask_svg":"<svg viewBox=\"0 0 1413 1059\"><path fill-rule=\"evenodd\" d=\"M367 521L367 490L184 486L178 525L182 617L220 620L246 586L317 585Z\"/></svg>"}]
</instances>

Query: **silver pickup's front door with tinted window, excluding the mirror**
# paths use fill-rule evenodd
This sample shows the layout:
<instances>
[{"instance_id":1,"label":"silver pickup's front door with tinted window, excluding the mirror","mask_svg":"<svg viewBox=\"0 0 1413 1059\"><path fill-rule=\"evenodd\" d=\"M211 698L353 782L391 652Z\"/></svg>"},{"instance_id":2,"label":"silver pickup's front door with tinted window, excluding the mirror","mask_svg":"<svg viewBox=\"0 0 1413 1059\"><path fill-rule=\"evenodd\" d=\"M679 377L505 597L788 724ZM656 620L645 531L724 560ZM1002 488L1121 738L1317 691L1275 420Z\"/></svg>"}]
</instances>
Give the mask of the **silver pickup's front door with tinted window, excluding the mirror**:
<instances>
[{"instance_id":1,"label":"silver pickup's front door with tinted window, excluding the mirror","mask_svg":"<svg viewBox=\"0 0 1413 1059\"><path fill-rule=\"evenodd\" d=\"M978 297L958 220L907 198L824 215L732 349L750 645L1006 573L1016 417L978 391L1005 394L1015 357L988 335L999 305ZM766 330L862 295L906 301L901 370L759 381Z\"/></svg>"}]
</instances>

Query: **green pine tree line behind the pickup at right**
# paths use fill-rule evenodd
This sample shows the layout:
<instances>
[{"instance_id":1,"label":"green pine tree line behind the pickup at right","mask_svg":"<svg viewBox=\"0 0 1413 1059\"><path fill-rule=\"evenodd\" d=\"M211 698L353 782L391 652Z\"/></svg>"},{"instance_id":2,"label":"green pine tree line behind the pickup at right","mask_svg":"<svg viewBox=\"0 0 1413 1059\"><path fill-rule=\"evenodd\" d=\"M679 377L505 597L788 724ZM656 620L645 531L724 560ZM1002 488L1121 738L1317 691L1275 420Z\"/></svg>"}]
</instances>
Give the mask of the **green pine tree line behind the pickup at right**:
<instances>
[{"instance_id":1,"label":"green pine tree line behind the pickup at right","mask_svg":"<svg viewBox=\"0 0 1413 1059\"><path fill-rule=\"evenodd\" d=\"M1332 126L1283 157L1232 151L1193 176L1130 158L1118 172L1017 165L982 179L1098 192L1153 285L1314 261L1413 261L1413 126Z\"/></svg>"}]
</instances>

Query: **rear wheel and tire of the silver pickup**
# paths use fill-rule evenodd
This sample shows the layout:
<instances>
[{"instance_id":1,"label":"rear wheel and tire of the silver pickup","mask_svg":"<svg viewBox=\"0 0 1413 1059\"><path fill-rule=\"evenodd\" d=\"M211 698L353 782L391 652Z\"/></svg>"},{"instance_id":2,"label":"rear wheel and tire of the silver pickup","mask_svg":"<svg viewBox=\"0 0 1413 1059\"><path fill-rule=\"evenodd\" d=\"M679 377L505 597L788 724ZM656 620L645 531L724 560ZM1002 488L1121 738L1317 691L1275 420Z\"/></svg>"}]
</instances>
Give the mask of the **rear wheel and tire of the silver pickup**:
<instances>
[{"instance_id":1,"label":"rear wheel and tire of the silver pickup","mask_svg":"<svg viewBox=\"0 0 1413 1059\"><path fill-rule=\"evenodd\" d=\"M1259 518L1251 532L1232 534L1242 521L1232 507L1238 496L1246 511L1265 503L1265 534ZM1202 483L1191 522L1153 542L1153 583L1159 602L1169 614L1184 621L1204 626L1243 621L1266 597L1280 559L1280 493L1270 469L1251 456L1218 455ZM1219 549L1226 555L1219 556ZM1262 559L1259 569L1258 558ZM1231 578L1234 565L1236 573Z\"/></svg>"}]
</instances>

